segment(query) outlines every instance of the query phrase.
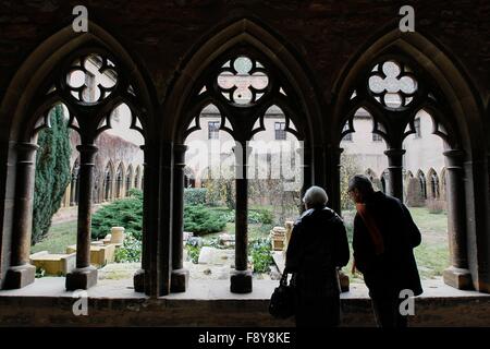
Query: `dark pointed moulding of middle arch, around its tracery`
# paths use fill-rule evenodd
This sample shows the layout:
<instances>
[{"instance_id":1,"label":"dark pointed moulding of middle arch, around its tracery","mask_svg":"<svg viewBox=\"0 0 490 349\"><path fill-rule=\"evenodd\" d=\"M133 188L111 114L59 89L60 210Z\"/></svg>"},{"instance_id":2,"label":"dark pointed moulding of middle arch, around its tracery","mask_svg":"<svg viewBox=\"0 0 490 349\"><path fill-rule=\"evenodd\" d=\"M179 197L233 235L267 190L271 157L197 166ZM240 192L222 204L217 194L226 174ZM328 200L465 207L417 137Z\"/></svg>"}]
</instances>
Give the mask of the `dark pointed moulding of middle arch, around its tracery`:
<instances>
[{"instance_id":1,"label":"dark pointed moulding of middle arch, around its tracery","mask_svg":"<svg viewBox=\"0 0 490 349\"><path fill-rule=\"evenodd\" d=\"M182 130L182 120L185 119L184 106L188 104L189 96L196 94L196 80L201 76L220 57L226 52L244 47L245 50L255 50L259 53L264 63L273 67L281 75L281 82L285 85L287 97L296 98L301 110L304 111L304 127L302 132L307 140L314 140L321 144L323 135L321 132L322 118L319 98L313 86L307 67L297 60L296 55L290 50L287 43L278 35L266 29L256 21L241 19L232 22L224 28L218 28L203 39L203 44L192 50L177 69L177 79L172 83L172 93L166 100L162 115L177 116L169 120L167 130L162 130L167 140L179 140ZM291 95L290 95L291 94ZM282 106L280 106L282 107ZM188 123L188 121L187 121ZM298 128L301 128L298 125Z\"/></svg>"}]
</instances>

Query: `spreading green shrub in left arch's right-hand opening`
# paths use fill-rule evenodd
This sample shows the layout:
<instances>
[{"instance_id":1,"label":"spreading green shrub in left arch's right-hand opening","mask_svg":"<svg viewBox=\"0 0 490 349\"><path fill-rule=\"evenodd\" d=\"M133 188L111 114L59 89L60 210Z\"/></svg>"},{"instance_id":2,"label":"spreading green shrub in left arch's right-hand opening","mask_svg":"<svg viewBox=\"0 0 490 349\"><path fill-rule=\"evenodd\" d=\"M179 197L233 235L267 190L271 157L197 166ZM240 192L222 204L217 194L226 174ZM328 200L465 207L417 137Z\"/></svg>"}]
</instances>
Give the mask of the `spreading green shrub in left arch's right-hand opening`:
<instances>
[{"instance_id":1,"label":"spreading green shrub in left arch's right-hand opening","mask_svg":"<svg viewBox=\"0 0 490 349\"><path fill-rule=\"evenodd\" d=\"M105 238L112 227L124 227L126 234L142 240L143 193L131 190L128 197L114 201L97 210L91 218L91 237Z\"/></svg>"}]
</instances>

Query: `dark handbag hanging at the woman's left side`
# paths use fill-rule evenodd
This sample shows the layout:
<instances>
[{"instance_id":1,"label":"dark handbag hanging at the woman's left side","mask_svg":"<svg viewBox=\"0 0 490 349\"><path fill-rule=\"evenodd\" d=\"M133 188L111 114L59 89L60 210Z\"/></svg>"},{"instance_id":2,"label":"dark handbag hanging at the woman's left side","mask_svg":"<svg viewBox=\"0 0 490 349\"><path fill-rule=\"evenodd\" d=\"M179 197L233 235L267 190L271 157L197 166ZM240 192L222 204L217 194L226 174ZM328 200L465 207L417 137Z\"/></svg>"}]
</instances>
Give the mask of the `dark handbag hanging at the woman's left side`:
<instances>
[{"instance_id":1,"label":"dark handbag hanging at the woman's left side","mask_svg":"<svg viewBox=\"0 0 490 349\"><path fill-rule=\"evenodd\" d=\"M270 298L269 313L278 318L287 318L295 314L296 287L295 277L287 284L287 273L283 273L279 287L277 287Z\"/></svg>"}]
</instances>

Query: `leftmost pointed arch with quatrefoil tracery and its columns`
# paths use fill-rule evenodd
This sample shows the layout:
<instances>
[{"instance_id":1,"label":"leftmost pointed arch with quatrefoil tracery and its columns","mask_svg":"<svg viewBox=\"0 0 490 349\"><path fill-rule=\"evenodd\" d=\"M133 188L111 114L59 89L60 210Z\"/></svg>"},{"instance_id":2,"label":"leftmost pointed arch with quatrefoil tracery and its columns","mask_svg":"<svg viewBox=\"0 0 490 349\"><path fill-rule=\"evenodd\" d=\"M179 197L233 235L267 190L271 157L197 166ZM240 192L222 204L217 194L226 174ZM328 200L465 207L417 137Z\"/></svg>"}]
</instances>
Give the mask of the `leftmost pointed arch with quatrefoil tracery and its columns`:
<instances>
[{"instance_id":1,"label":"leftmost pointed arch with quatrefoil tracery and its columns","mask_svg":"<svg viewBox=\"0 0 490 349\"><path fill-rule=\"evenodd\" d=\"M81 136L81 145L77 146L77 151L81 152L78 214L83 213L84 219L78 220L78 234L83 236L84 243L90 239L89 224L81 222L89 222L91 215L89 207L94 193L89 186L94 186L91 168L97 152L94 143L101 132L111 128L111 111L120 104L126 104L133 113L131 128L139 131L145 142L155 137L150 132L157 129L151 125L155 122L154 111L157 104L150 80L142 67L113 36L94 22L89 21L88 32L82 34L74 33L69 25L47 38L27 57L11 80L9 93L0 104L2 120L0 133L2 139L9 140L12 144L7 155L12 159L35 156L37 132L49 127L47 112L54 104L62 103L66 106L70 112L69 125ZM112 82L109 84L107 81L98 82L94 73L99 73ZM96 91L94 95L89 93L91 89ZM158 156L156 158L158 159ZM29 240L30 233L28 229L16 224L30 220L32 215L29 205L23 204L28 201L24 197L21 200L21 196L32 195L33 189L27 188L27 183L34 176L34 168L26 171L16 170L16 167L23 166L22 164L19 160L12 167L0 169L4 171L1 177L5 178L1 185L26 186L29 192L24 194L19 191L14 194L11 200L15 201L15 207L11 208L4 204L0 207L4 217L13 217L13 225L3 229L3 234L8 236L5 241L12 241L13 249L24 243L20 241ZM154 182L158 184L158 180ZM4 193L4 190L0 192ZM0 195L0 198L3 198L3 194ZM1 202L4 203L3 200ZM81 203L84 207L81 207ZM78 250L77 253L82 255L85 252ZM11 258L11 266L25 263L20 261L27 257L23 251L16 251ZM81 268L88 266L88 258L86 255L77 258L77 266ZM3 263L2 276L7 268L9 263ZM16 272L12 273L11 279L16 284L14 276ZM90 286L87 284L84 287ZM12 287L20 286L12 285ZM66 287L70 289L74 285L68 281Z\"/></svg>"}]
</instances>

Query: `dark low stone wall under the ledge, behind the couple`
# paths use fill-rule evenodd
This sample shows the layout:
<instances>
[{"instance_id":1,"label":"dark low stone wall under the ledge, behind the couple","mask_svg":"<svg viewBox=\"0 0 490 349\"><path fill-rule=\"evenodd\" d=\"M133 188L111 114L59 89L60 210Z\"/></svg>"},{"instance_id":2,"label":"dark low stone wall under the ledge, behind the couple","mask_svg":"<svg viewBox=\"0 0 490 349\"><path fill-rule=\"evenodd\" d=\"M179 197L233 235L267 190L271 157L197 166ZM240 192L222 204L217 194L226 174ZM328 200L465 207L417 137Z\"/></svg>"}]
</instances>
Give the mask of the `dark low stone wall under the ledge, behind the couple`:
<instances>
[{"instance_id":1,"label":"dark low stone wall under the ledge, behind the couple","mask_svg":"<svg viewBox=\"0 0 490 349\"><path fill-rule=\"evenodd\" d=\"M0 326L294 326L291 318L270 316L268 304L268 299L89 299L89 316L74 316L71 298L1 297ZM375 326L368 299L343 299L342 309L342 326ZM488 298L427 298L417 301L409 326L488 326L489 314Z\"/></svg>"}]
</instances>

